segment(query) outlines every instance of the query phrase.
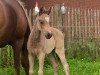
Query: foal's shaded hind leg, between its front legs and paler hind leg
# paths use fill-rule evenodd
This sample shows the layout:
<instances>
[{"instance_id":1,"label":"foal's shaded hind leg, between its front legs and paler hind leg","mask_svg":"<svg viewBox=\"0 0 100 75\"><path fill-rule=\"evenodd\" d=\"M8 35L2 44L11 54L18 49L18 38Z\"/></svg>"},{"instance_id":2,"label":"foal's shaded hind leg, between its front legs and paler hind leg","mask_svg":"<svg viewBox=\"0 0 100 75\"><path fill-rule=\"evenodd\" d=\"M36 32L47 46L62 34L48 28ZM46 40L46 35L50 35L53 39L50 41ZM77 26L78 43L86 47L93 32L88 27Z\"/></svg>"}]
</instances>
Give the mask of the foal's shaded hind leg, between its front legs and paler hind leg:
<instances>
[{"instance_id":1,"label":"foal's shaded hind leg, between its front legs and paler hind leg","mask_svg":"<svg viewBox=\"0 0 100 75\"><path fill-rule=\"evenodd\" d=\"M52 54L52 53L49 54L49 59L50 59L52 65L53 65L53 68L54 68L54 75L58 75L58 69L59 69L58 61L56 60L54 54Z\"/></svg>"}]
</instances>

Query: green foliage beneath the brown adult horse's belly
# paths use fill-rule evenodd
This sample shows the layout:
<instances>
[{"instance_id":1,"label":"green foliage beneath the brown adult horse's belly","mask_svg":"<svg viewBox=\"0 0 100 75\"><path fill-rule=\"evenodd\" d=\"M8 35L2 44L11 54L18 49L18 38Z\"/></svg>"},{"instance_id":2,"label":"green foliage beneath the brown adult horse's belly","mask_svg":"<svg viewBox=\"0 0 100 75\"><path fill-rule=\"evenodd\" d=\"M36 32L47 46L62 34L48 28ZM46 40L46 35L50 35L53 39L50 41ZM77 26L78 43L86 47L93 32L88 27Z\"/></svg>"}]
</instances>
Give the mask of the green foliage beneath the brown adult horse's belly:
<instances>
[{"instance_id":1,"label":"green foliage beneath the brown adult horse's belly","mask_svg":"<svg viewBox=\"0 0 100 75\"><path fill-rule=\"evenodd\" d=\"M13 65L13 50L7 45L0 49L0 67L8 67Z\"/></svg>"}]
</instances>

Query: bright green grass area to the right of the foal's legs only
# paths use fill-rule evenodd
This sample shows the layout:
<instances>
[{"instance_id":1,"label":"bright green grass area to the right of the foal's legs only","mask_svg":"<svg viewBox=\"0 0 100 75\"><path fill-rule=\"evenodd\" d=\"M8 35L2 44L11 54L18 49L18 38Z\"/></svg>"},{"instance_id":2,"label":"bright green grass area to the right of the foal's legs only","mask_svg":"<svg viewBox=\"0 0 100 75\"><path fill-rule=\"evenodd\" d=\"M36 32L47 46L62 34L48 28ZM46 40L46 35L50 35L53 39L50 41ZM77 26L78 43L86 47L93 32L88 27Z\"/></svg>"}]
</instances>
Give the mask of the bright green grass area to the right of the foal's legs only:
<instances>
[{"instance_id":1,"label":"bright green grass area to the right of the foal's legs only","mask_svg":"<svg viewBox=\"0 0 100 75\"><path fill-rule=\"evenodd\" d=\"M100 61L70 60L71 75L100 75Z\"/></svg>"}]
</instances>

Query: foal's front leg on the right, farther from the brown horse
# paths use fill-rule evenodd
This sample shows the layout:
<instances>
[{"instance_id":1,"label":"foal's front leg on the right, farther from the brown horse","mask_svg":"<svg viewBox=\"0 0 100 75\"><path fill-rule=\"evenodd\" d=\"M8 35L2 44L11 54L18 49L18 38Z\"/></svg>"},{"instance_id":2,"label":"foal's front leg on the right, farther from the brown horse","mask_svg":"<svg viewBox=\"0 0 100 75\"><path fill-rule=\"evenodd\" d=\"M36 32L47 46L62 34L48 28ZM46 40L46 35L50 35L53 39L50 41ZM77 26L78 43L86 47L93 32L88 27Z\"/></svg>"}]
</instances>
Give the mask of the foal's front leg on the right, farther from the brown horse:
<instances>
[{"instance_id":1,"label":"foal's front leg on the right, farther from the brown horse","mask_svg":"<svg viewBox=\"0 0 100 75\"><path fill-rule=\"evenodd\" d=\"M43 65L44 65L45 53L40 52L38 58L39 58L38 75L43 75Z\"/></svg>"}]
</instances>

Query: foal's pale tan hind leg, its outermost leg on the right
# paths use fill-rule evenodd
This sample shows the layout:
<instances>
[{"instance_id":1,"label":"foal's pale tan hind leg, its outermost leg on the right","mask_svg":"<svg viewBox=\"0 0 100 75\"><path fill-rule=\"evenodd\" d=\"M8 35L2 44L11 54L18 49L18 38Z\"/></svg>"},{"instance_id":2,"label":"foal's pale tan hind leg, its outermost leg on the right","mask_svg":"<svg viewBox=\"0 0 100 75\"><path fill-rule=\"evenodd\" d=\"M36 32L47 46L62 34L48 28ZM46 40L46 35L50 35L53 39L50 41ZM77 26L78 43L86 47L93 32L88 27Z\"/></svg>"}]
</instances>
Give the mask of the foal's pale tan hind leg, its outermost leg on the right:
<instances>
[{"instance_id":1,"label":"foal's pale tan hind leg, its outermost leg on the right","mask_svg":"<svg viewBox=\"0 0 100 75\"><path fill-rule=\"evenodd\" d=\"M61 63L63 64L65 74L69 75L69 66L65 58L64 49L56 49L56 53L59 56Z\"/></svg>"}]
</instances>

